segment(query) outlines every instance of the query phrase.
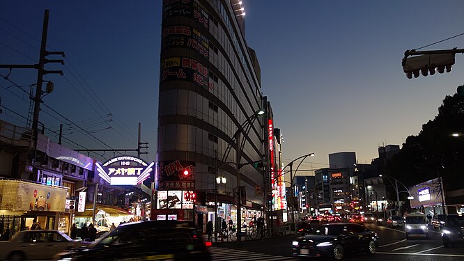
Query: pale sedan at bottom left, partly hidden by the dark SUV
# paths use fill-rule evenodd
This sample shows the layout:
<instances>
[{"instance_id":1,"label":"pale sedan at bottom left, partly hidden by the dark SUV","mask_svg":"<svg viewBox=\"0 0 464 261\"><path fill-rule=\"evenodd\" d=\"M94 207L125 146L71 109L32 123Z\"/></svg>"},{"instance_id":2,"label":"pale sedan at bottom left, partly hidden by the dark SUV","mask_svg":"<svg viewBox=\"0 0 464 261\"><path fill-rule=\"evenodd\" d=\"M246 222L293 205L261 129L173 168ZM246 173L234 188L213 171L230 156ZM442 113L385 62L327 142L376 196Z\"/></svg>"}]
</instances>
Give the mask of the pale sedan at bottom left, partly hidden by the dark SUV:
<instances>
[{"instance_id":1,"label":"pale sedan at bottom left, partly hidden by the dark SUV","mask_svg":"<svg viewBox=\"0 0 464 261\"><path fill-rule=\"evenodd\" d=\"M0 242L0 260L50 260L56 253L90 244L74 241L59 230L23 230L10 241Z\"/></svg>"}]
</instances>

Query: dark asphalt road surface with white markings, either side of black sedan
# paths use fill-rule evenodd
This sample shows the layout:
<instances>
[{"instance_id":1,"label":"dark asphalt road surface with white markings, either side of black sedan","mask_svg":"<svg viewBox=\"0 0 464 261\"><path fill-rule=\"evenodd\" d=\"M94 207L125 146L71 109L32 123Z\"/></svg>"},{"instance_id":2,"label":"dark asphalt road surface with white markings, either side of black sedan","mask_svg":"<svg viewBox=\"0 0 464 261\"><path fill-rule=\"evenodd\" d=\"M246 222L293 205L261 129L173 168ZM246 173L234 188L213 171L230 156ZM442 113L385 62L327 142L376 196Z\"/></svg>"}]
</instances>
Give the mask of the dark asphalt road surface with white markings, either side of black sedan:
<instances>
[{"instance_id":1,"label":"dark asphalt road surface with white markings, either side of black sedan","mask_svg":"<svg viewBox=\"0 0 464 261\"><path fill-rule=\"evenodd\" d=\"M380 237L378 253L373 256L354 255L346 260L411 260L411 261L456 261L464 260L464 246L444 248L441 231L430 229L430 239L405 239L404 228L387 228L365 224ZM217 244L211 248L213 260L300 260L291 256L291 242L295 235L253 242Z\"/></svg>"}]
</instances>

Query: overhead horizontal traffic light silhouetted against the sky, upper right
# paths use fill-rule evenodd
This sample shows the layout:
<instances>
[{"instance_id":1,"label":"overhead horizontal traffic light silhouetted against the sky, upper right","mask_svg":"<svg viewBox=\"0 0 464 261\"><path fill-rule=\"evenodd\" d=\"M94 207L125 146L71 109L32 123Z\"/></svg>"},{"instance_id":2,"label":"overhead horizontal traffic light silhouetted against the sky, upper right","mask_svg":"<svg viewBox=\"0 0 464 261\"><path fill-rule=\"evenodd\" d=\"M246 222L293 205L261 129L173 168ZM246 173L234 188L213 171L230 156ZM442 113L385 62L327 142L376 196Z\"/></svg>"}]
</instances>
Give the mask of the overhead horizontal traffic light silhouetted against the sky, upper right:
<instances>
[{"instance_id":1,"label":"overhead horizontal traffic light silhouetted against the sky, upper right","mask_svg":"<svg viewBox=\"0 0 464 261\"><path fill-rule=\"evenodd\" d=\"M403 58L403 71L408 79L419 77L419 73L427 76L435 74L435 71L444 73L444 70L451 72L451 66L454 65L454 54L424 54Z\"/></svg>"}]
</instances>

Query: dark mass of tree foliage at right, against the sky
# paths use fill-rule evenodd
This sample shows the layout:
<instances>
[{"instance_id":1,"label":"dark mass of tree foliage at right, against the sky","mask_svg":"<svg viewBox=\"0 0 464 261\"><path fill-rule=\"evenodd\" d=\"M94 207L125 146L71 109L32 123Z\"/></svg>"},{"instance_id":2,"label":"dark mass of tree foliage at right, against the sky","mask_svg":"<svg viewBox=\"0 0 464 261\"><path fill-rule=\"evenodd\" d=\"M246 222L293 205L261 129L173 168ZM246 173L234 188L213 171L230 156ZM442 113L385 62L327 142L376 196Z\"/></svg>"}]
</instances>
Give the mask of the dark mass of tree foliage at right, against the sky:
<instances>
[{"instance_id":1,"label":"dark mass of tree foliage at right, against the sky","mask_svg":"<svg viewBox=\"0 0 464 261\"><path fill-rule=\"evenodd\" d=\"M442 176L445 189L462 189L464 97L445 97L438 116L422 125L417 136L408 136L400 152L387 162L387 172L408 186Z\"/></svg>"}]
</instances>

